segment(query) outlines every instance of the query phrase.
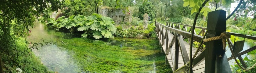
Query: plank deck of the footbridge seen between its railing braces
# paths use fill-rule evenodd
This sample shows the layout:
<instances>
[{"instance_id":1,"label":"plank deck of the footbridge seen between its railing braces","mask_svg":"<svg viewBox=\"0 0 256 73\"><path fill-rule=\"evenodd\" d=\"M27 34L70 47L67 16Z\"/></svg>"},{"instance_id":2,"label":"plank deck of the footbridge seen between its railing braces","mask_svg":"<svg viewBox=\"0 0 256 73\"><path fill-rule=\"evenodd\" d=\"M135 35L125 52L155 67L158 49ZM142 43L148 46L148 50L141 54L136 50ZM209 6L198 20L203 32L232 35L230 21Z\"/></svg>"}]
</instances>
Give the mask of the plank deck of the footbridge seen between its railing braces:
<instances>
[{"instance_id":1,"label":"plank deck of the footbridge seen between its railing braces","mask_svg":"<svg viewBox=\"0 0 256 73\"><path fill-rule=\"evenodd\" d=\"M164 33L165 33L165 31L164 31ZM171 33L168 33L168 35L170 35L170 36L169 36L169 42L171 42L171 39L174 37L174 35L171 34ZM158 39L160 39L160 38L161 38L161 37L158 36ZM159 40L159 41L162 41L162 39ZM186 50L187 50L187 54L189 55L189 43L187 43L187 42L184 41L184 40L183 40L183 42L185 43L185 47L186 47ZM160 43L162 44L162 42L160 42ZM166 41L164 42L164 45L162 45L162 49L164 50L164 53L166 54L165 44L166 44ZM170 44L170 43L168 43L168 44ZM193 47L193 50L192 50L192 53L193 53L193 54L192 54L192 57L194 56L196 50L197 50L197 48ZM175 43L173 44L173 46L172 46L172 48L171 48L171 51L170 51L170 52L173 52L173 53L172 53L173 55L171 55L170 52L168 53L168 55L166 55L166 57L167 57L167 59L168 59L168 62L169 62L169 64L170 64L172 70L174 70L174 69L173 69L173 67L174 67L174 64L173 64L173 63L174 63L174 62L172 62L171 56L174 57L174 54L175 54L174 51L175 51ZM197 56L198 56L199 54L201 54L201 52L199 52L199 53L197 54ZM181 55L180 50L179 50L179 56L178 56L178 57L179 57L179 60L178 60L178 68L180 68L180 67L182 67L182 66L184 65L184 62L183 62L183 59L182 59L182 55ZM194 72L194 73L204 73L204 67L205 67L205 60L202 61L201 63L199 63L197 66L193 67L193 72Z\"/></svg>"}]
</instances>

